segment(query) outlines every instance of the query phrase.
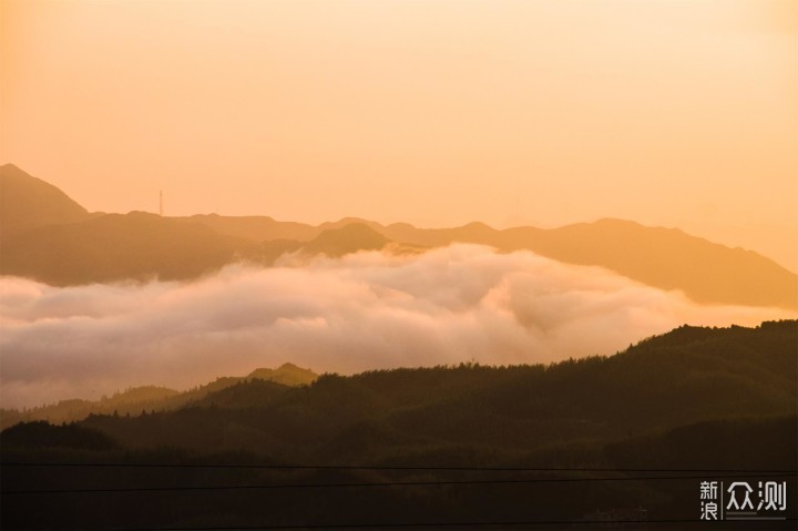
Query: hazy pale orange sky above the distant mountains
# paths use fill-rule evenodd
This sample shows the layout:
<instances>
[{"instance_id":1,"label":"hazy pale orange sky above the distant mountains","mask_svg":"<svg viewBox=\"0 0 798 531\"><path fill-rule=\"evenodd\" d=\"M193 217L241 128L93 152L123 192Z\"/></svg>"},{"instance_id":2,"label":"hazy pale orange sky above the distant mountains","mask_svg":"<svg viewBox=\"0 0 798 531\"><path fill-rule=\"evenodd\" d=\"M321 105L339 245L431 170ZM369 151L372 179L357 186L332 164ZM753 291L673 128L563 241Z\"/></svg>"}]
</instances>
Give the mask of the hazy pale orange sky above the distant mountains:
<instances>
[{"instance_id":1,"label":"hazy pale orange sky above the distant mountains","mask_svg":"<svg viewBox=\"0 0 798 531\"><path fill-rule=\"evenodd\" d=\"M0 6L0 163L92 211L612 216L798 270L795 0Z\"/></svg>"}]
</instances>

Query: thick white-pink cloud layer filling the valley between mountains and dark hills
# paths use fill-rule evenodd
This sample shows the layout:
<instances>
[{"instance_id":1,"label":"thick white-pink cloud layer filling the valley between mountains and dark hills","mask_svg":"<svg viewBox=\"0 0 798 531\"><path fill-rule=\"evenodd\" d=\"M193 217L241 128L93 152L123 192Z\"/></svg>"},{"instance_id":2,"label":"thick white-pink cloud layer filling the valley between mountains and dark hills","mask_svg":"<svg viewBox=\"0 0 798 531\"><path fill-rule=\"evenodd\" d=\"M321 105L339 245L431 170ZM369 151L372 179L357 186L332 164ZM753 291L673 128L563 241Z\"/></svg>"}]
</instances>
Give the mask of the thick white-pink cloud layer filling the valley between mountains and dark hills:
<instances>
[{"instance_id":1,"label":"thick white-pink cloud layer filling the valley between mountains and dark hills","mask_svg":"<svg viewBox=\"0 0 798 531\"><path fill-rule=\"evenodd\" d=\"M51 287L0 278L0 404L186 388L291 361L357 372L613 354L682 324L781 309L703 306L601 268L454 245L303 267L231 266L193 283Z\"/></svg>"}]
</instances>

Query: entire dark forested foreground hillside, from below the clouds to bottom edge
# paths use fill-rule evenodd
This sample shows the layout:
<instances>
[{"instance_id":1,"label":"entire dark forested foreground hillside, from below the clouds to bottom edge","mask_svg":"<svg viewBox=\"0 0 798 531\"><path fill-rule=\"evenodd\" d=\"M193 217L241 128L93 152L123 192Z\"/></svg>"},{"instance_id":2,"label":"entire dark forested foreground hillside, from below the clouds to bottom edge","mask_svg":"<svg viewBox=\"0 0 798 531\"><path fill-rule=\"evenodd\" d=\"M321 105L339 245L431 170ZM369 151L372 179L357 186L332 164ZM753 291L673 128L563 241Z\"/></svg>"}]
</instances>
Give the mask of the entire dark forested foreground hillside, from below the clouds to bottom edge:
<instances>
[{"instance_id":1,"label":"entire dark forested foreground hillside, from below the clouds to bottom edge","mask_svg":"<svg viewBox=\"0 0 798 531\"><path fill-rule=\"evenodd\" d=\"M299 388L256 379L174 411L18 425L0 436L3 490L84 492L6 496L3 523L74 528L89 508L101 529L119 527L120 514L145 528L390 514L574 522L642 507L689 529L702 479L796 488L796 345L798 321L682 327L614 356L551 366L324 375ZM789 529L789 507L784 528L766 529Z\"/></svg>"}]
</instances>

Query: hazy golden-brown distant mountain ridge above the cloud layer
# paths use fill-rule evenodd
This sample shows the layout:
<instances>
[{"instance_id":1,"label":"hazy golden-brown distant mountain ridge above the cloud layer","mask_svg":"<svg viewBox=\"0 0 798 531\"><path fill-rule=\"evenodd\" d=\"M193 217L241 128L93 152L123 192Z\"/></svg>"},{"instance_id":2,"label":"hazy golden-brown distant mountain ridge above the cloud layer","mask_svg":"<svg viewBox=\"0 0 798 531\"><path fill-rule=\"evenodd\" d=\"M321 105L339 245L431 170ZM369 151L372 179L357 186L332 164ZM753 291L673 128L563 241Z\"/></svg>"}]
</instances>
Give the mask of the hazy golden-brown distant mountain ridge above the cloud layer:
<instances>
[{"instance_id":1,"label":"hazy golden-brown distant mountain ridge above the cloud layer","mask_svg":"<svg viewBox=\"0 0 798 531\"><path fill-rule=\"evenodd\" d=\"M601 219L553 229L381 225L344 218L318 226L267 216L89 214L58 188L18 167L0 167L3 203L0 274L54 285L192 279L234 262L272 265L286 253L342 256L358 251L420 252L453 243L501 252L529 249L569 264L601 266L661 289L681 289L706 304L798 309L798 275L774 261L676 228ZM8 223L8 228L6 224ZM398 246L398 247L397 247Z\"/></svg>"}]
</instances>

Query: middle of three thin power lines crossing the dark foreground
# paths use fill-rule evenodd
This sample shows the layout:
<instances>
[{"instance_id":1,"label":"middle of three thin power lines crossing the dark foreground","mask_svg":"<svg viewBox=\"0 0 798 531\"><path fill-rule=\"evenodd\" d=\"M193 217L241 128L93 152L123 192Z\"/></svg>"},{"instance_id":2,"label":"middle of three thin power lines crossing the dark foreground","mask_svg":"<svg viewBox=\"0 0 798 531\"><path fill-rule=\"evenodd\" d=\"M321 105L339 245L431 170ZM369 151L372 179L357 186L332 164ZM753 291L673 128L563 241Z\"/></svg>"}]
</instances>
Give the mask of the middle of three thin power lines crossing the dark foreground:
<instances>
[{"instance_id":1,"label":"middle of three thin power lines crossing the dark foreground","mask_svg":"<svg viewBox=\"0 0 798 531\"><path fill-rule=\"evenodd\" d=\"M769 478L791 477L787 473L756 474ZM715 476L714 478L748 478L751 474ZM383 481L359 483L273 483L273 484L234 484L234 486L192 486L192 487L124 487L102 489L45 489L45 490L8 490L1 496L18 494L86 494L86 493L125 493L125 492L184 492L184 491L219 491L219 490L280 490L280 489L340 489L369 487L442 487L442 486L478 486L478 484L532 484L532 483L571 483L596 481L659 481L674 479L706 479L706 476L654 476L637 478L535 478L535 479L488 479L457 481Z\"/></svg>"}]
</instances>

